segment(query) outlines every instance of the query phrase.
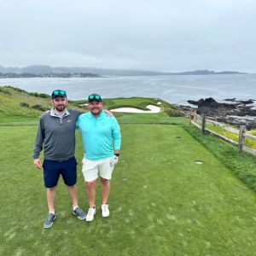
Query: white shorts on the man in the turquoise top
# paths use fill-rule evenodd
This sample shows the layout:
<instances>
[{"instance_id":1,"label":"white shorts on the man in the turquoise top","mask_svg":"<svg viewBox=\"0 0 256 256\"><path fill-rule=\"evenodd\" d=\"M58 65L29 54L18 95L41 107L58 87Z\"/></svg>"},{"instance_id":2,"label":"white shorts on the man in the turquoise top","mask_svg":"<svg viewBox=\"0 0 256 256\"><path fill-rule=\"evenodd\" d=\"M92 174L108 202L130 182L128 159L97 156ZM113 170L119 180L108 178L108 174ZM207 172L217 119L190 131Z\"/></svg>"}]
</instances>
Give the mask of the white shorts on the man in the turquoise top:
<instances>
[{"instance_id":1,"label":"white shorts on the man in the turquoise top","mask_svg":"<svg viewBox=\"0 0 256 256\"><path fill-rule=\"evenodd\" d=\"M94 181L99 176L106 179L111 179L113 166L110 166L110 160L111 157L104 160L83 159L82 172L84 175L84 181Z\"/></svg>"}]
</instances>

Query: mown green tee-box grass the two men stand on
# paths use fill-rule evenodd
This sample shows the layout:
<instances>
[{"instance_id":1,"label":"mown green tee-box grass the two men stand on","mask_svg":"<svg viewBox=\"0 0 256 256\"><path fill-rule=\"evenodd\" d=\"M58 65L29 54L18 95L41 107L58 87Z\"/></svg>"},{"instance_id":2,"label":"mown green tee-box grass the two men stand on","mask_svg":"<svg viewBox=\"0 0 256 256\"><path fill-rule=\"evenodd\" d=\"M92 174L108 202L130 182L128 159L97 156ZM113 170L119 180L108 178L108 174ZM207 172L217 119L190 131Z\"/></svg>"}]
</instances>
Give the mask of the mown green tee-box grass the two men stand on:
<instances>
[{"instance_id":1,"label":"mown green tee-box grass the two men stand on","mask_svg":"<svg viewBox=\"0 0 256 256\"><path fill-rule=\"evenodd\" d=\"M75 218L59 183L50 230L36 126L0 127L0 255L253 255L256 195L179 125L121 125L109 218ZM87 208L80 172L79 205ZM195 164L201 160L202 165ZM99 188L98 188L99 191Z\"/></svg>"}]
</instances>

